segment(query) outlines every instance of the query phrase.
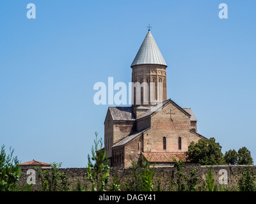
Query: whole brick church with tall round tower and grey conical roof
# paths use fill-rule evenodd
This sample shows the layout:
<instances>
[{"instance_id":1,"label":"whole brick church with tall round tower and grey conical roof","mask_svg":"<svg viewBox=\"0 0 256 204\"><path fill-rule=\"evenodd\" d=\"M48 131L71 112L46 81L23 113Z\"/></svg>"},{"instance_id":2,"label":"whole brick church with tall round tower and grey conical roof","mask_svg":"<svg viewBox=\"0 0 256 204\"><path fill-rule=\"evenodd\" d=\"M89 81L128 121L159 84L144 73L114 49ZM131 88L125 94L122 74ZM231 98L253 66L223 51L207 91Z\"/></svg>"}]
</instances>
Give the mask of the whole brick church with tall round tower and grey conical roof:
<instances>
[{"instance_id":1,"label":"whole brick church with tall round tower and grey conical roof","mask_svg":"<svg viewBox=\"0 0 256 204\"><path fill-rule=\"evenodd\" d=\"M109 106L104 121L104 149L109 166L129 168L145 157L158 166L184 158L191 142L205 139L197 132L191 108L167 99L166 62L150 29L132 68L132 105Z\"/></svg>"}]
</instances>

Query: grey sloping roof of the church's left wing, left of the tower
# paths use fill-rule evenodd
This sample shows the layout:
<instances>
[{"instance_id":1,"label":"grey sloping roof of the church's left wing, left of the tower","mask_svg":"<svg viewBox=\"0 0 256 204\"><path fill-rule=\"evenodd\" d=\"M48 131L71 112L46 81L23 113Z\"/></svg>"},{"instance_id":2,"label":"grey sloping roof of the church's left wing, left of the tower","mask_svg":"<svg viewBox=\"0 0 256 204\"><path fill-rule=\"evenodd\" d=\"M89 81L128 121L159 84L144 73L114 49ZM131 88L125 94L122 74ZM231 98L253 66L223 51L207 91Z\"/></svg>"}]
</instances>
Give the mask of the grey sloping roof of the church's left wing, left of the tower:
<instances>
[{"instance_id":1,"label":"grey sloping roof of the church's left wing, left of the tower","mask_svg":"<svg viewBox=\"0 0 256 204\"><path fill-rule=\"evenodd\" d=\"M108 107L109 112L113 120L135 120L135 116L132 112L132 107Z\"/></svg>"}]
</instances>

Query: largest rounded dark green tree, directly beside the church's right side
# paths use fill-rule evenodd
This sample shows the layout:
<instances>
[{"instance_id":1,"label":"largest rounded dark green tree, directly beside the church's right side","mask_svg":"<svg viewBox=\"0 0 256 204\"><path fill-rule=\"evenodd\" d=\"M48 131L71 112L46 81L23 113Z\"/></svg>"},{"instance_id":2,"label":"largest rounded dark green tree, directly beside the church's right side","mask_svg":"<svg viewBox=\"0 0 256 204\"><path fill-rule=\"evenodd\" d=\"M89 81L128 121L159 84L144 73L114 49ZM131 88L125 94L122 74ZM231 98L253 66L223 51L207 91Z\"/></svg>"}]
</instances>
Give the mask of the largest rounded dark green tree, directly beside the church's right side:
<instances>
[{"instance_id":1,"label":"largest rounded dark green tree, directly beside the church's right side","mask_svg":"<svg viewBox=\"0 0 256 204\"><path fill-rule=\"evenodd\" d=\"M221 145L214 138L200 139L197 143L191 142L188 151L185 152L187 161L202 165L225 164Z\"/></svg>"}]
</instances>

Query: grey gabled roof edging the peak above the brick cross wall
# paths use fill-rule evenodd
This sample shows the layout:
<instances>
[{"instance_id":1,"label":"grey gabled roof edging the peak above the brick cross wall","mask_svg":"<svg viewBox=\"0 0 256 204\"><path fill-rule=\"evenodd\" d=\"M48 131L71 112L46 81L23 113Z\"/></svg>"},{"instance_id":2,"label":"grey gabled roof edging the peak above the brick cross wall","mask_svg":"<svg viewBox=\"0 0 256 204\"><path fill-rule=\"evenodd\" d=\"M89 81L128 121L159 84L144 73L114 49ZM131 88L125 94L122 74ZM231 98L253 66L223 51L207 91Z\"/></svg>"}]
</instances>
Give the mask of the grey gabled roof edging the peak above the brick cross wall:
<instances>
[{"instance_id":1,"label":"grey gabled roof edging the peak above the brick cross wall","mask_svg":"<svg viewBox=\"0 0 256 204\"><path fill-rule=\"evenodd\" d=\"M175 103L174 101L172 101L172 99L168 99L166 101L164 101L163 103L159 103L157 105L151 106L149 108L149 110L147 110L147 112L143 113L140 115L140 117L138 117L137 119L142 119L143 117L147 117L149 115L153 115L156 112L159 112L160 110L162 110L162 108L164 106L166 106L168 103L172 103L176 108L178 108L181 112L183 112L184 114L188 115L188 117L191 117L191 115L186 112L186 110L184 110L183 108L181 108L179 105L177 105L177 103Z\"/></svg>"}]
</instances>

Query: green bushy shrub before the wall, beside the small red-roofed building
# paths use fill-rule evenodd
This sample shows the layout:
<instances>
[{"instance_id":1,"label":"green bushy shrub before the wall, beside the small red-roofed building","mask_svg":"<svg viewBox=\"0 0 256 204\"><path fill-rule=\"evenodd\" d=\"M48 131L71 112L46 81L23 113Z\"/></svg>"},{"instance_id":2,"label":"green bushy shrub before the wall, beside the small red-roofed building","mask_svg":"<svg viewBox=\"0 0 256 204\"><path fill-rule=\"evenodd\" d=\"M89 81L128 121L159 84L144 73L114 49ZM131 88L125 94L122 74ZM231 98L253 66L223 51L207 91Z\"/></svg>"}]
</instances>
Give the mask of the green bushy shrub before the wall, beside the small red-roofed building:
<instances>
[{"instance_id":1,"label":"green bushy shrub before the wall, beside the small red-roofed building","mask_svg":"<svg viewBox=\"0 0 256 204\"><path fill-rule=\"evenodd\" d=\"M42 170L36 166L38 178L41 180L42 191L69 191L70 182L67 180L67 175L60 172L61 163L52 163L51 171Z\"/></svg>"}]
</instances>

